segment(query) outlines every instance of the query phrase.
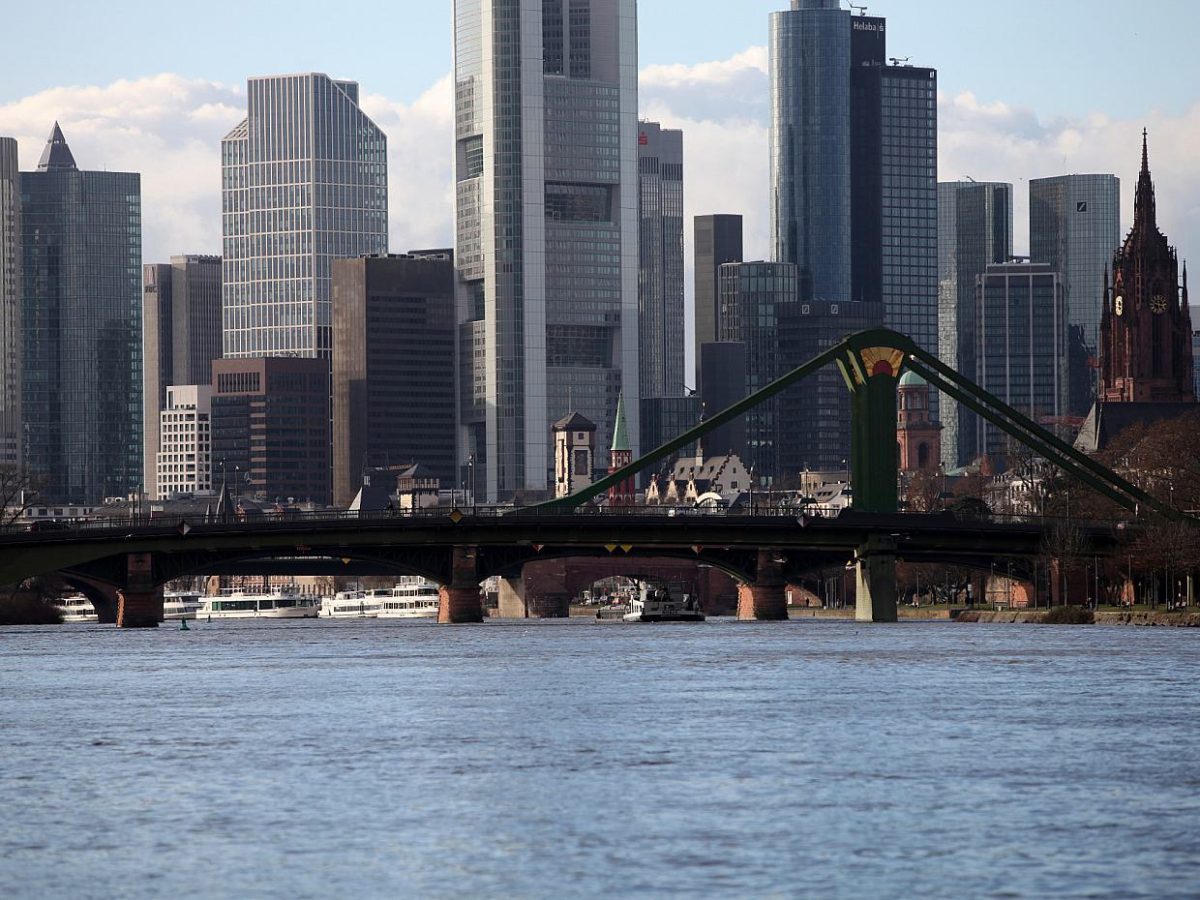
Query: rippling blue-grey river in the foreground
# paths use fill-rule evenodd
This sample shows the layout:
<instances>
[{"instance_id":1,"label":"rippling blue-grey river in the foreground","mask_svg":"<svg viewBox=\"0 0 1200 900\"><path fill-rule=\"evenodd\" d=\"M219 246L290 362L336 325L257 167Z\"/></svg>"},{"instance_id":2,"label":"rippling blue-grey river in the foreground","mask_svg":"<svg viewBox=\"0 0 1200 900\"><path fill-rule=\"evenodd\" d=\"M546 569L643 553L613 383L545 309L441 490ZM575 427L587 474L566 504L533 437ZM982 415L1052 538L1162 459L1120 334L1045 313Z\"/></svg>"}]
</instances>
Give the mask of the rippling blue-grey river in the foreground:
<instances>
[{"instance_id":1,"label":"rippling blue-grey river in the foreground","mask_svg":"<svg viewBox=\"0 0 1200 900\"><path fill-rule=\"evenodd\" d=\"M0 896L1195 896L1200 635L0 630Z\"/></svg>"}]
</instances>

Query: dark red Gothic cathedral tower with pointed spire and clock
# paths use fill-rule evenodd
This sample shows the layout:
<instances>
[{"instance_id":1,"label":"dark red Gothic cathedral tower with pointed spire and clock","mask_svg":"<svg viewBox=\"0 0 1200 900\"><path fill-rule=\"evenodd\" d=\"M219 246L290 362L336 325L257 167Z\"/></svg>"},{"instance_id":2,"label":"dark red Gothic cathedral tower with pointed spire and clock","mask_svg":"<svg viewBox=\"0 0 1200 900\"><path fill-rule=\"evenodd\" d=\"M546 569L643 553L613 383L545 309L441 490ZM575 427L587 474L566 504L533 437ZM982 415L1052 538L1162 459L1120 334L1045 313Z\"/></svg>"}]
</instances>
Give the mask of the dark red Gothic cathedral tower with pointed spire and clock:
<instances>
[{"instance_id":1,"label":"dark red Gothic cathedral tower with pointed spire and clock","mask_svg":"<svg viewBox=\"0 0 1200 900\"><path fill-rule=\"evenodd\" d=\"M1103 450L1121 431L1174 419L1195 408L1188 274L1158 228L1148 137L1129 236L1104 274L1100 384L1076 446Z\"/></svg>"}]
</instances>

